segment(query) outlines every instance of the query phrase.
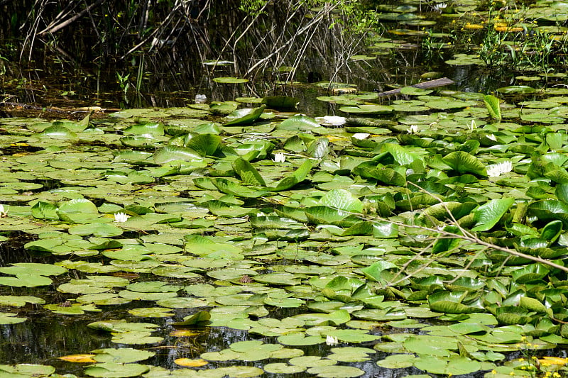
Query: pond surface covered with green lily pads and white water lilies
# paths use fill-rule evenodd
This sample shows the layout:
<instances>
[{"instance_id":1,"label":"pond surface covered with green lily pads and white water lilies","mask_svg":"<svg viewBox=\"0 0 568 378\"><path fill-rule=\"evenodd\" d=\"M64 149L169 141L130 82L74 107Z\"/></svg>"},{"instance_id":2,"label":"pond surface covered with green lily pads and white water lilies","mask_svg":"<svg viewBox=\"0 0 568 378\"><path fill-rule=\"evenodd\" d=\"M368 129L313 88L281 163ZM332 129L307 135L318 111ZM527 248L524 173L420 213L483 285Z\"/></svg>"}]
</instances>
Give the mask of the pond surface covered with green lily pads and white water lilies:
<instances>
[{"instance_id":1,"label":"pond surface covered with green lily pads and white water lilies","mask_svg":"<svg viewBox=\"0 0 568 378\"><path fill-rule=\"evenodd\" d=\"M154 57L140 91L128 70L12 65L0 378L565 376L560 60L513 70L526 30L507 25L484 52L494 12L525 22L505 6L395 5L332 84L307 82L339 67L320 55L275 85ZM560 28L555 6L523 19ZM436 77L454 84L409 87Z\"/></svg>"}]
</instances>

